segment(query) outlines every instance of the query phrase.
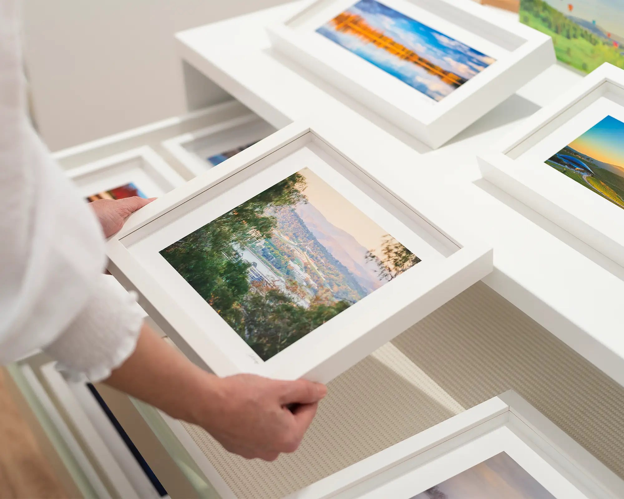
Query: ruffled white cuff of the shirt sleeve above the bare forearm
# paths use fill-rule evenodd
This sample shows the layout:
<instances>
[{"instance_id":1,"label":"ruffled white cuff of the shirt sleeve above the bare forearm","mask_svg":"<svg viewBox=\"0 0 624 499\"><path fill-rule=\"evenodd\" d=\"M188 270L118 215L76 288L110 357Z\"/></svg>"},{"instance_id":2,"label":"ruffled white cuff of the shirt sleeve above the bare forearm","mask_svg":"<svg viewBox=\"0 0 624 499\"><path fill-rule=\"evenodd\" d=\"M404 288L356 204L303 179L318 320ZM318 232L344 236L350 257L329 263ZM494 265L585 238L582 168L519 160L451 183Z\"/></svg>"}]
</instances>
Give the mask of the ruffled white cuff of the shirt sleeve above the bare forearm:
<instances>
[{"instance_id":1,"label":"ruffled white cuff of the shirt sleeve above the bare forearm","mask_svg":"<svg viewBox=\"0 0 624 499\"><path fill-rule=\"evenodd\" d=\"M134 352L145 317L135 298L112 276L100 278L74 322L44 349L72 379L80 374L92 382L109 377Z\"/></svg>"}]
</instances>

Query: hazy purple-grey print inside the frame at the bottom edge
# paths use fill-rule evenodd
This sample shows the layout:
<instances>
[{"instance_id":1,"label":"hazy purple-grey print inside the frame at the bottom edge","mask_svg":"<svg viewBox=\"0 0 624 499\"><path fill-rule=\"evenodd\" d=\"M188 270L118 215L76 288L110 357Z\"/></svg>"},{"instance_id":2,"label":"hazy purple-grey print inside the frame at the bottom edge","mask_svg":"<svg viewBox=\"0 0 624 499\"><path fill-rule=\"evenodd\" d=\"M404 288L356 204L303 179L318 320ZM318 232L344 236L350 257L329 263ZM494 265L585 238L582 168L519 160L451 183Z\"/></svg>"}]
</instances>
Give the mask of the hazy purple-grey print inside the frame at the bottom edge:
<instances>
[{"instance_id":1,"label":"hazy purple-grey print inside the frame at the bottom edge","mask_svg":"<svg viewBox=\"0 0 624 499\"><path fill-rule=\"evenodd\" d=\"M555 499L505 452L412 499Z\"/></svg>"}]
</instances>

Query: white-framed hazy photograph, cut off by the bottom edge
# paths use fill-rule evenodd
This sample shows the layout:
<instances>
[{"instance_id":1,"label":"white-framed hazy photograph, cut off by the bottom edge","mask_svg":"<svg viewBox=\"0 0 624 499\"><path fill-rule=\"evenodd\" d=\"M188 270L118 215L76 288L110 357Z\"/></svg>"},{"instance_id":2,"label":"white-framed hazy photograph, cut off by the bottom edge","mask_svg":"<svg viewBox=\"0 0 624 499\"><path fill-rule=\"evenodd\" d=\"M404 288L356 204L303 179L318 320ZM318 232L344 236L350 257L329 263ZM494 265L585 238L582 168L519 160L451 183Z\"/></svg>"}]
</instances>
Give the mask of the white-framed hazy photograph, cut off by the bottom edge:
<instances>
[{"instance_id":1,"label":"white-framed hazy photograph, cut off by the bottom edge","mask_svg":"<svg viewBox=\"0 0 624 499\"><path fill-rule=\"evenodd\" d=\"M624 482L515 392L287 499L616 499Z\"/></svg>"}]
</instances>

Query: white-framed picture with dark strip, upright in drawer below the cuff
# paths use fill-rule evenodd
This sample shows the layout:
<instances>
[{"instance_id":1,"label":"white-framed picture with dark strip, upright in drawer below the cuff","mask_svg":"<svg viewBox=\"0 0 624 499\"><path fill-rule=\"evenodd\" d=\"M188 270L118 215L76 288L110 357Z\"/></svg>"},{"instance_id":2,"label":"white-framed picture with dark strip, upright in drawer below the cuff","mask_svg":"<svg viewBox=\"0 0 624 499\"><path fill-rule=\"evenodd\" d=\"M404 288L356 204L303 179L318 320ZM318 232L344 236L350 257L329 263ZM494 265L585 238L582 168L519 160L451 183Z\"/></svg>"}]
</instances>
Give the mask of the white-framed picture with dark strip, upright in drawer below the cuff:
<instances>
[{"instance_id":1,"label":"white-framed picture with dark strip, upright in drawer below the cuff","mask_svg":"<svg viewBox=\"0 0 624 499\"><path fill-rule=\"evenodd\" d=\"M94 385L87 379L66 379L55 364L44 364L41 375L120 496L167 499L167 491Z\"/></svg>"}]
</instances>

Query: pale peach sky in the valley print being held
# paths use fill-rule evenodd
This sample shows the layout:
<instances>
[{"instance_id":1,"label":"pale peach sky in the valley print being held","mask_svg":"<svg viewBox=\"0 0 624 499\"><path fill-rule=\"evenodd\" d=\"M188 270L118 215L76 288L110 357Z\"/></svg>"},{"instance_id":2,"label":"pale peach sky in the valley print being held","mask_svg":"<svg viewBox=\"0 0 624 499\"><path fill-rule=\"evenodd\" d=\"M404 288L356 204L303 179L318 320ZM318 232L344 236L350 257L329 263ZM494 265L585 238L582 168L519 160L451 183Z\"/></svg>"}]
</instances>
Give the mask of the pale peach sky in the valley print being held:
<instances>
[{"instance_id":1,"label":"pale peach sky in the valley print being held","mask_svg":"<svg viewBox=\"0 0 624 499\"><path fill-rule=\"evenodd\" d=\"M310 168L304 168L299 173L306 178L307 187L303 193L329 223L351 234L366 249L374 251L381 246L383 236L388 232L329 187Z\"/></svg>"}]
</instances>

